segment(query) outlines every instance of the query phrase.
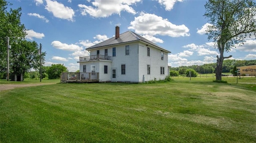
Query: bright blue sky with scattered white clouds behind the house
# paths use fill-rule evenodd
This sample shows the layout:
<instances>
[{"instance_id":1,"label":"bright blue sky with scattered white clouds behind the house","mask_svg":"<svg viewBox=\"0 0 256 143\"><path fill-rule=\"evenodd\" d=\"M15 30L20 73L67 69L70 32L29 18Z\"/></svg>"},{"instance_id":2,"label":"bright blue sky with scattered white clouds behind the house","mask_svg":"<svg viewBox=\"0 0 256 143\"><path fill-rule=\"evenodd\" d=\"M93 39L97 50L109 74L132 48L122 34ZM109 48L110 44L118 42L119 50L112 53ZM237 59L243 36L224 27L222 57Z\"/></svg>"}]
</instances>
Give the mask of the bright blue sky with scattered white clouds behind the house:
<instances>
[{"instance_id":1,"label":"bright blue sky with scattered white clouds behind the house","mask_svg":"<svg viewBox=\"0 0 256 143\"><path fill-rule=\"evenodd\" d=\"M164 47L172 67L215 63L214 44L208 41L204 18L206 0L7 0L22 8L26 39L42 44L45 66L62 63L79 69L87 47L120 33L134 31ZM256 40L246 39L229 53L230 59L256 59Z\"/></svg>"}]
</instances>

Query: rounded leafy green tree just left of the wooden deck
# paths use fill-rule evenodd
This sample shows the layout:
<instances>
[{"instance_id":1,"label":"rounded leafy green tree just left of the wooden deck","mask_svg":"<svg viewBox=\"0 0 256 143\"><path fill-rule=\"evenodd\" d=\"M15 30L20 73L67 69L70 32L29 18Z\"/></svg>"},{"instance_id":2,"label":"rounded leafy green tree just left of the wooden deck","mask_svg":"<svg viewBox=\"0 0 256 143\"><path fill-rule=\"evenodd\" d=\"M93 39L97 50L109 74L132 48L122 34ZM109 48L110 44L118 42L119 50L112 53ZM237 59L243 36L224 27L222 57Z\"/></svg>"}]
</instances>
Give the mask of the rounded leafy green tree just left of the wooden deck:
<instances>
[{"instance_id":1,"label":"rounded leafy green tree just left of the wooden deck","mask_svg":"<svg viewBox=\"0 0 256 143\"><path fill-rule=\"evenodd\" d=\"M68 72L68 69L63 64L52 64L46 71L49 79L60 78L62 72Z\"/></svg>"}]
</instances>

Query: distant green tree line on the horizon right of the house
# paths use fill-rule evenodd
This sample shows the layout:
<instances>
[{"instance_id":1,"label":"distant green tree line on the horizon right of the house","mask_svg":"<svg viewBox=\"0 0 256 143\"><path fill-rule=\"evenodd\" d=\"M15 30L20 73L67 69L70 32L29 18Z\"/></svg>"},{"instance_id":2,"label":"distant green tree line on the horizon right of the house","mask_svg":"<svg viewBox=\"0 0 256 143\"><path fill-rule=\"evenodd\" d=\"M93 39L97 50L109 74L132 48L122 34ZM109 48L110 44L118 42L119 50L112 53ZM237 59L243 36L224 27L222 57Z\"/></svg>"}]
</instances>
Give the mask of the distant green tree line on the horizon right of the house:
<instances>
[{"instance_id":1,"label":"distant green tree line on the horizon right of the house","mask_svg":"<svg viewBox=\"0 0 256 143\"><path fill-rule=\"evenodd\" d=\"M256 60L224 60L222 72L233 73L234 67L256 65ZM212 74L216 72L216 63L192 66L180 66L170 68L170 75L186 74L188 69L193 69L200 74ZM174 72L177 71L177 72Z\"/></svg>"}]
</instances>

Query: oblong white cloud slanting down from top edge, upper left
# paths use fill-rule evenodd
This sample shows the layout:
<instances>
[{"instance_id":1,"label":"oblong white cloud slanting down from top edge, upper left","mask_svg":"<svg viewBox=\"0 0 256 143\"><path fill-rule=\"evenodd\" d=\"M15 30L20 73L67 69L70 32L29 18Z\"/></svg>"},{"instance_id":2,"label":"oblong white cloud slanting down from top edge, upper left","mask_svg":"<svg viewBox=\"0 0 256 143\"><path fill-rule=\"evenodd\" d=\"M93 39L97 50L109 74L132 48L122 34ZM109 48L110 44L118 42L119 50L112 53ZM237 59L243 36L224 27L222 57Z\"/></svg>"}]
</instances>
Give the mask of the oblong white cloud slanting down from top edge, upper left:
<instances>
[{"instance_id":1,"label":"oblong white cloud slanting down from top edge, upper left","mask_svg":"<svg viewBox=\"0 0 256 143\"><path fill-rule=\"evenodd\" d=\"M52 12L54 17L74 21L73 16L75 14L74 10L70 7L64 6L64 4L57 1L46 0L45 9Z\"/></svg>"}]
</instances>

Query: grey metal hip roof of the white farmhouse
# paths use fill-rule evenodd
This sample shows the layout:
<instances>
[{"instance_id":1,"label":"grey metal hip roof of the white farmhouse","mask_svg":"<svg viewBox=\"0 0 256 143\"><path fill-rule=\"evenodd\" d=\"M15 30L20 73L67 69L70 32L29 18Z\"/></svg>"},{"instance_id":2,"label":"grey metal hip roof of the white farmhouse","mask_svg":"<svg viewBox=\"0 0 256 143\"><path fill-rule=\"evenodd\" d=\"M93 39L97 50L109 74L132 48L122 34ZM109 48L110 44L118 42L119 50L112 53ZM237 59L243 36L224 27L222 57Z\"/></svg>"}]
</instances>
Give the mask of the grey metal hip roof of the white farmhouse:
<instances>
[{"instance_id":1,"label":"grey metal hip roof of the white farmhouse","mask_svg":"<svg viewBox=\"0 0 256 143\"><path fill-rule=\"evenodd\" d=\"M103 41L101 43L98 43L96 45L93 45L91 47L86 48L86 50L90 51L90 49L98 48L98 47L104 47L108 45L115 45L115 44L120 44L120 43L126 43L126 42L131 42L131 41L144 41L148 44L154 45L160 49L163 49L164 51L167 51L171 53L170 51L164 49L163 47L160 47L159 45L153 43L152 41L149 41L148 39L132 32L132 31L126 31L122 34L120 34L119 38L116 39L116 37L112 37L106 41Z\"/></svg>"}]
</instances>

